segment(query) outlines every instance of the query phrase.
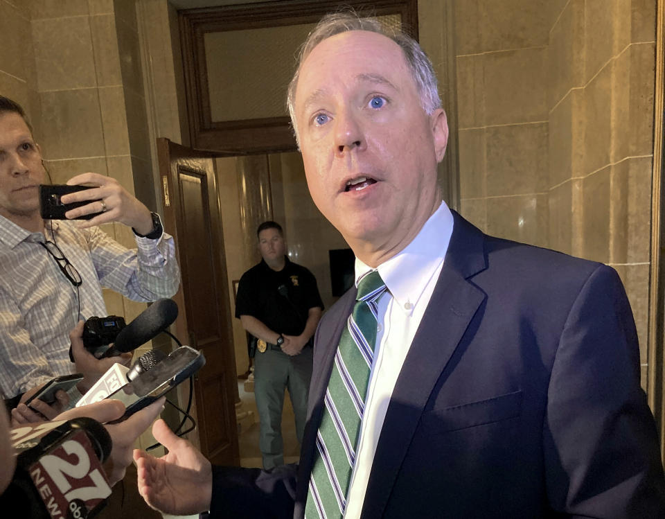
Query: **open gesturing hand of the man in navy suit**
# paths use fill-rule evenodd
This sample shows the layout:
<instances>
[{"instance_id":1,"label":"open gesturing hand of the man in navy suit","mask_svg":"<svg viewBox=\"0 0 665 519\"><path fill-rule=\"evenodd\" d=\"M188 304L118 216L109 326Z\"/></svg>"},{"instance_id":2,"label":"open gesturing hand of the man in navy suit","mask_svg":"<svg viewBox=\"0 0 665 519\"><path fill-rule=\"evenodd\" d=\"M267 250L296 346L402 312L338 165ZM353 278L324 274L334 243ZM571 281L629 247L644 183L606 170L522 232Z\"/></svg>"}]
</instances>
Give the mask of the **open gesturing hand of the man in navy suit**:
<instances>
[{"instance_id":1,"label":"open gesturing hand of the man in navy suit","mask_svg":"<svg viewBox=\"0 0 665 519\"><path fill-rule=\"evenodd\" d=\"M134 450L139 473L139 493L150 507L162 513L188 515L210 509L213 472L210 461L186 439L178 438L163 420L152 434L168 454L161 458Z\"/></svg>"}]
</instances>

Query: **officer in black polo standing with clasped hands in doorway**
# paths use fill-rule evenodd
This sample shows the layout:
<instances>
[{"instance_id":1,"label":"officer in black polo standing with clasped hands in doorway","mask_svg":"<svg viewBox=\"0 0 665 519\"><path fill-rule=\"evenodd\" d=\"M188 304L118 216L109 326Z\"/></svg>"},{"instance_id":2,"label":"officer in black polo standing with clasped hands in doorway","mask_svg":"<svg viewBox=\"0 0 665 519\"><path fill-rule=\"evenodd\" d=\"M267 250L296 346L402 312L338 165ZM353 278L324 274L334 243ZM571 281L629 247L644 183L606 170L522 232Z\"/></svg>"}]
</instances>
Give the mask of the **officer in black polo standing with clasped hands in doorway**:
<instances>
[{"instance_id":1,"label":"officer in black polo standing with clasped hands in doorway","mask_svg":"<svg viewBox=\"0 0 665 519\"><path fill-rule=\"evenodd\" d=\"M263 468L284 464L281 432L284 389L289 389L298 441L303 440L312 376L312 336L323 302L317 280L285 256L281 226L263 222L256 231L263 260L242 274L236 317L258 338L254 395L260 419Z\"/></svg>"}]
</instances>

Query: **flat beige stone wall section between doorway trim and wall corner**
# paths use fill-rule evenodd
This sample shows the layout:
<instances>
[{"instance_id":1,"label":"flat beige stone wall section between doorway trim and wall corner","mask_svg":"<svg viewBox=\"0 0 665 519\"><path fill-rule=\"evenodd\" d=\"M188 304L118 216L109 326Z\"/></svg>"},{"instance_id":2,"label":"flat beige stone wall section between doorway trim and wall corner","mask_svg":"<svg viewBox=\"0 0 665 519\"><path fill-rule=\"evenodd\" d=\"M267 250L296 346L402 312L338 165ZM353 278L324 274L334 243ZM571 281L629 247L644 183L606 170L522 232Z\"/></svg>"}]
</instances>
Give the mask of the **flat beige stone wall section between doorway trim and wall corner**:
<instances>
[{"instance_id":1,"label":"flat beige stone wall section between doorway trim and wall corner","mask_svg":"<svg viewBox=\"0 0 665 519\"><path fill-rule=\"evenodd\" d=\"M547 245L549 0L457 0L461 213Z\"/></svg>"}]
</instances>

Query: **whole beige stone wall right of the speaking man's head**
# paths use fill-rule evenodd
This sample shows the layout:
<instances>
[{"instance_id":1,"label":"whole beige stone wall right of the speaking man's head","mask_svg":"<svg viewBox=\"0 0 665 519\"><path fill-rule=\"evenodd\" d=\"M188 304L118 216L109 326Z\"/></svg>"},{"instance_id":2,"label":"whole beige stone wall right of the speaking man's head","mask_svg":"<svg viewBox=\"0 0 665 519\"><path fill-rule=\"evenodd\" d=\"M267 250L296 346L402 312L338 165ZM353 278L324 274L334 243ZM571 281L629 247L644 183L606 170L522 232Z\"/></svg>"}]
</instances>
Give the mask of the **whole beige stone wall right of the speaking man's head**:
<instances>
[{"instance_id":1,"label":"whole beige stone wall right of the speaking man's head","mask_svg":"<svg viewBox=\"0 0 665 519\"><path fill-rule=\"evenodd\" d=\"M456 0L461 211L608 263L646 340L655 0Z\"/></svg>"}]
</instances>

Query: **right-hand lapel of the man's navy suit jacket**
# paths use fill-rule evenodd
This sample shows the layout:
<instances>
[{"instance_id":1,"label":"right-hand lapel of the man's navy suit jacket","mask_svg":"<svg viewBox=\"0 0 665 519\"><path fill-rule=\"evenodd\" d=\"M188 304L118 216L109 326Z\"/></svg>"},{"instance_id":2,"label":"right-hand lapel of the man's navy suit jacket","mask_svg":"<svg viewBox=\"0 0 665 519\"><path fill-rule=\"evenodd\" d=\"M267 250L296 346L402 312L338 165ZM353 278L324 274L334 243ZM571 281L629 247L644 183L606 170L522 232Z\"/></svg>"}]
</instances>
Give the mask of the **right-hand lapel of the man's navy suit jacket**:
<instances>
[{"instance_id":1,"label":"right-hand lapel of the man's navy suit jacket","mask_svg":"<svg viewBox=\"0 0 665 519\"><path fill-rule=\"evenodd\" d=\"M484 235L453 211L441 274L391 396L362 517L381 517L425 403L485 294L467 280L486 268Z\"/></svg>"}]
</instances>

